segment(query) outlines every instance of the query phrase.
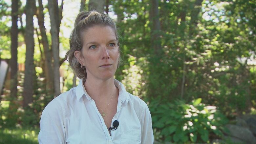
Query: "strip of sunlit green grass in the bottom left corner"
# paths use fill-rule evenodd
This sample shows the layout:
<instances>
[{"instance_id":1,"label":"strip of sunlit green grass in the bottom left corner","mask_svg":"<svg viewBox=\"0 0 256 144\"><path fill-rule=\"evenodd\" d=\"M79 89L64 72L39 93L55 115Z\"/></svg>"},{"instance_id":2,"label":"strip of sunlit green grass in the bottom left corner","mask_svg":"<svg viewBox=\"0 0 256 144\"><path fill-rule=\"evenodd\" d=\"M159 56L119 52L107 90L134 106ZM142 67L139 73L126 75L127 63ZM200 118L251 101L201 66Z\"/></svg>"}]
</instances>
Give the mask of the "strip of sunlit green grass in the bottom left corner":
<instances>
[{"instance_id":1,"label":"strip of sunlit green grass in the bottom left corner","mask_svg":"<svg viewBox=\"0 0 256 144\"><path fill-rule=\"evenodd\" d=\"M38 144L39 129L0 129L0 144Z\"/></svg>"}]
</instances>

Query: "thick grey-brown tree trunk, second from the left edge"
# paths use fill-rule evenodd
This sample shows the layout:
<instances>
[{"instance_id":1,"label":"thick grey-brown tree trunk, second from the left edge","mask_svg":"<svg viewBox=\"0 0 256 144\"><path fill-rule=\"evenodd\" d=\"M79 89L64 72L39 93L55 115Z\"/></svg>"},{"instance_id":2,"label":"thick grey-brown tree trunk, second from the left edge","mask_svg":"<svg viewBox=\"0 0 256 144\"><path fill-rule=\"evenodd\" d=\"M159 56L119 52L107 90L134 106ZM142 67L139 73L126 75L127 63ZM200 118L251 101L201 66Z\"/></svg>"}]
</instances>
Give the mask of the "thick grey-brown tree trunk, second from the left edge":
<instances>
[{"instance_id":1,"label":"thick grey-brown tree trunk, second from the left edge","mask_svg":"<svg viewBox=\"0 0 256 144\"><path fill-rule=\"evenodd\" d=\"M33 6L35 0L26 2L26 60L25 60L25 78L24 78L24 91L23 91L23 107L27 107L32 102L33 95L33 69L34 69L34 28L33 28Z\"/></svg>"}]
</instances>

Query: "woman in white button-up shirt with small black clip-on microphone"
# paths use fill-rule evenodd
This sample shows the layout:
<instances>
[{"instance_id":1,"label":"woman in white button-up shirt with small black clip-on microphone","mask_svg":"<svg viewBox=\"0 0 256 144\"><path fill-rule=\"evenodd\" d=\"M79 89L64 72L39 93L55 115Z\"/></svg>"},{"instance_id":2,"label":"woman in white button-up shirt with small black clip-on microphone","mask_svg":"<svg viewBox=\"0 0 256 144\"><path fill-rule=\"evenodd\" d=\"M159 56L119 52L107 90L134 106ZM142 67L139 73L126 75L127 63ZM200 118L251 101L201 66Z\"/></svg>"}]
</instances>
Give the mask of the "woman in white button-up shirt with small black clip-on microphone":
<instances>
[{"instance_id":1,"label":"woman in white button-up shirt with small black clip-on microphone","mask_svg":"<svg viewBox=\"0 0 256 144\"><path fill-rule=\"evenodd\" d=\"M119 51L117 28L108 15L77 15L66 59L81 80L45 107L40 144L153 144L147 104L114 79Z\"/></svg>"}]
</instances>

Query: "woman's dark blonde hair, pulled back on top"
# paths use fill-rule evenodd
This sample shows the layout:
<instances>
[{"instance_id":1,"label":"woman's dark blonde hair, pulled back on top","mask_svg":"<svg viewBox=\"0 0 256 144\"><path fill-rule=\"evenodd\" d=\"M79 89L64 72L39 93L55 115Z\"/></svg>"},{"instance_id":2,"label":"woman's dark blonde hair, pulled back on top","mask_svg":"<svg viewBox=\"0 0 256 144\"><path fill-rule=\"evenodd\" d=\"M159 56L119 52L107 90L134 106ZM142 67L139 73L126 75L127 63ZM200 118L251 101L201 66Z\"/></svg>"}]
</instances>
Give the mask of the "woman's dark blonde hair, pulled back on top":
<instances>
[{"instance_id":1,"label":"woman's dark blonde hair, pulled back on top","mask_svg":"<svg viewBox=\"0 0 256 144\"><path fill-rule=\"evenodd\" d=\"M66 60L69 62L70 67L75 72L76 76L80 79L86 78L86 68L81 68L81 64L76 59L75 51L81 51L83 47L82 32L88 30L93 26L110 26L114 31L117 39L118 51L120 53L120 45L118 41L117 28L113 20L102 12L93 11L82 11L75 19L75 27L71 32L69 44L70 50L66 53ZM118 67L121 63L120 56L118 58Z\"/></svg>"}]
</instances>

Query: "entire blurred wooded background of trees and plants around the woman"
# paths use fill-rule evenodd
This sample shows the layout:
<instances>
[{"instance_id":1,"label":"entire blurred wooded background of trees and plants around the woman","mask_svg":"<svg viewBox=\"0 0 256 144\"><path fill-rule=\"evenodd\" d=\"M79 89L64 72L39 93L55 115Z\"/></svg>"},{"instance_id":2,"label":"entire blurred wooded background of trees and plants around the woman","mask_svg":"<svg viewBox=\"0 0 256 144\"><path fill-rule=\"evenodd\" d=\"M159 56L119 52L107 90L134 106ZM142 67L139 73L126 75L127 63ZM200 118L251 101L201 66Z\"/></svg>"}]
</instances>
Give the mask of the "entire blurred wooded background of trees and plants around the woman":
<instances>
[{"instance_id":1,"label":"entire blurred wooded background of trees and plants around the woman","mask_svg":"<svg viewBox=\"0 0 256 144\"><path fill-rule=\"evenodd\" d=\"M115 78L155 144L256 143L255 0L0 0L0 143L38 143L44 107L78 84L64 57L82 10L116 22Z\"/></svg>"}]
</instances>

